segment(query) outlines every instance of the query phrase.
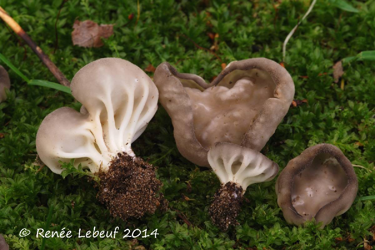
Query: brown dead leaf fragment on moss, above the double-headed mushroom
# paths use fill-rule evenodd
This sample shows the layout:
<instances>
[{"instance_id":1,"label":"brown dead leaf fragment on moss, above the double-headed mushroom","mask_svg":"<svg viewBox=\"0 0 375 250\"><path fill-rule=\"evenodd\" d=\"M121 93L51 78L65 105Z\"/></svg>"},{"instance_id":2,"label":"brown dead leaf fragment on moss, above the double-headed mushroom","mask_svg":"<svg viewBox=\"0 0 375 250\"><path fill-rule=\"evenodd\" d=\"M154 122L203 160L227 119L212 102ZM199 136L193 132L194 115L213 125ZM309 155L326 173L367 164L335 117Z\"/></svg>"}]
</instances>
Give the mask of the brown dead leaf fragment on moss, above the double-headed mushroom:
<instances>
[{"instance_id":1,"label":"brown dead leaf fragment on moss, above the double-headed mushroom","mask_svg":"<svg viewBox=\"0 0 375 250\"><path fill-rule=\"evenodd\" d=\"M113 35L113 24L98 25L91 20L83 22L76 20L73 28L73 45L81 47L101 47L104 45L101 38L108 38Z\"/></svg>"}]
</instances>

